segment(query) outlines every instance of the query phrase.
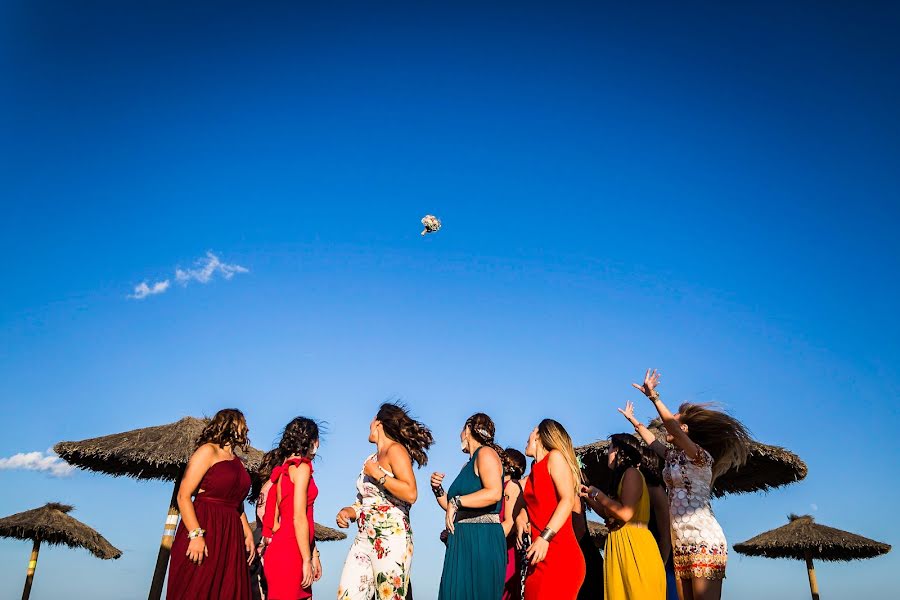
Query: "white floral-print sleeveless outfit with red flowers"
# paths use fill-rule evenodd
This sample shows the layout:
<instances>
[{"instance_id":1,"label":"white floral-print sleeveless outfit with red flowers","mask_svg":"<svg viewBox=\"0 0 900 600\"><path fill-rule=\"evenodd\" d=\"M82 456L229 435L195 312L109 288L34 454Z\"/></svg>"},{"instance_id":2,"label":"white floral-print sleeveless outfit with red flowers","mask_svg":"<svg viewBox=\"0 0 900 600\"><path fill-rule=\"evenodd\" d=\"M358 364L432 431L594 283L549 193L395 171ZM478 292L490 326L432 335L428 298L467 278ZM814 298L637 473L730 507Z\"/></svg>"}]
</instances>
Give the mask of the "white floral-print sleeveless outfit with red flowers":
<instances>
[{"instance_id":1,"label":"white floral-print sleeveless outfit with red flowers","mask_svg":"<svg viewBox=\"0 0 900 600\"><path fill-rule=\"evenodd\" d=\"M366 461L372 460L372 454ZM407 598L412 565L412 506L395 498L366 475L365 465L356 479L356 524L341 582L338 600L396 600Z\"/></svg>"}]
</instances>

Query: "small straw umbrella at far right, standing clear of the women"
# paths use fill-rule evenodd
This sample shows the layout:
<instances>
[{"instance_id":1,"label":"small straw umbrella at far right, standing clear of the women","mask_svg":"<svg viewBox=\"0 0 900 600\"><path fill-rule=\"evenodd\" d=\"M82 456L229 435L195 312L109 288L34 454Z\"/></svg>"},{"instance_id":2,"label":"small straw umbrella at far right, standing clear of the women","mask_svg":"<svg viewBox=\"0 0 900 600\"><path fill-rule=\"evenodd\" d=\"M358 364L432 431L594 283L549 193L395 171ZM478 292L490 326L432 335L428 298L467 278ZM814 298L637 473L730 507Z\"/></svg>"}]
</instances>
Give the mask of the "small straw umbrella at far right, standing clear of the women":
<instances>
[{"instance_id":1,"label":"small straw umbrella at far right, standing clear of the women","mask_svg":"<svg viewBox=\"0 0 900 600\"><path fill-rule=\"evenodd\" d=\"M748 556L805 560L813 600L819 600L813 560L850 561L874 558L887 554L891 549L888 544L819 525L810 515L790 515L788 519L787 525L735 544L734 551Z\"/></svg>"}]
</instances>

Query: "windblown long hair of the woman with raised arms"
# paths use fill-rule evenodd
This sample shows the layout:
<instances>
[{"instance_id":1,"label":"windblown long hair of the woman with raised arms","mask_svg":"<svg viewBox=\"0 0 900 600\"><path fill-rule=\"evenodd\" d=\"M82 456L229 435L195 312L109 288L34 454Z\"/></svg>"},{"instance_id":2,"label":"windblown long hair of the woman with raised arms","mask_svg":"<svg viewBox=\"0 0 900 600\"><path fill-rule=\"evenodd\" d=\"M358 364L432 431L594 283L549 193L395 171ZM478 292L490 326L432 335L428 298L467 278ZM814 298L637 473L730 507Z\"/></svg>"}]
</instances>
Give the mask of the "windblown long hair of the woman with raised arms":
<instances>
[{"instance_id":1,"label":"windblown long hair of the woman with raised arms","mask_svg":"<svg viewBox=\"0 0 900 600\"><path fill-rule=\"evenodd\" d=\"M691 441L713 458L713 481L729 469L743 466L750 455L750 432L744 424L713 404L686 402L678 408L678 422L688 427Z\"/></svg>"}]
</instances>

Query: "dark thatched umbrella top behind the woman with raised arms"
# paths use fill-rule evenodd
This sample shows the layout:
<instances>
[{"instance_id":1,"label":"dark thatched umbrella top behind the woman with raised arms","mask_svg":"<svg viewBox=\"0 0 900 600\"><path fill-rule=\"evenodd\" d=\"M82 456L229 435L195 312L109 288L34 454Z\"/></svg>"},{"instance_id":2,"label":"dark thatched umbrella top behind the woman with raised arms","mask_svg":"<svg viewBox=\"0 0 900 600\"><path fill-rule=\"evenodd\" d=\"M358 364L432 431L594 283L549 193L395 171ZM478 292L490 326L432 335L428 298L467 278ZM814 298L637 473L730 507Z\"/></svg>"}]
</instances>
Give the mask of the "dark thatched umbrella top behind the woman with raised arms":
<instances>
[{"instance_id":1,"label":"dark thatched umbrella top behind the woman with raised arms","mask_svg":"<svg viewBox=\"0 0 900 600\"><path fill-rule=\"evenodd\" d=\"M651 421L648 427L658 440L665 443L666 432L659 419ZM584 464L585 477L601 490L609 486L608 448L609 440L599 440L575 449ZM722 497L725 494L768 491L800 481L806 473L806 463L790 450L754 441L747 463L720 475L713 483L713 494Z\"/></svg>"}]
</instances>

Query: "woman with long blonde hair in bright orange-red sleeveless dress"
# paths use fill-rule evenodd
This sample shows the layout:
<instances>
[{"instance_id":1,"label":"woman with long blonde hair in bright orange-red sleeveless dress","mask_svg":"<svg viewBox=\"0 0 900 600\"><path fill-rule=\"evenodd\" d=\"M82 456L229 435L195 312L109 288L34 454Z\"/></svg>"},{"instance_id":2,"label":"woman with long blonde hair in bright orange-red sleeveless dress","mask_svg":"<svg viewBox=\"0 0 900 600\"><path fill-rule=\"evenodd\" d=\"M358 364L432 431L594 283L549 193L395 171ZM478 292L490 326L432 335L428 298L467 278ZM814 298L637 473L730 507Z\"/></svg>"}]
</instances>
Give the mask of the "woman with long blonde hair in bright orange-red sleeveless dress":
<instances>
[{"instance_id":1,"label":"woman with long blonde hair in bright orange-red sleeveless dress","mask_svg":"<svg viewBox=\"0 0 900 600\"><path fill-rule=\"evenodd\" d=\"M534 458L525 483L525 506L531 520L526 557L525 600L575 600L584 581L584 556L572 529L572 511L581 488L581 469L572 439L562 425L544 419L528 438L525 454ZM524 517L516 522L519 535Z\"/></svg>"}]
</instances>

